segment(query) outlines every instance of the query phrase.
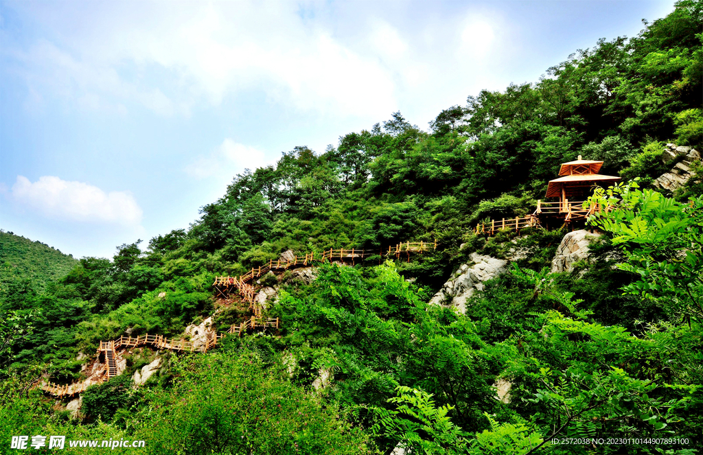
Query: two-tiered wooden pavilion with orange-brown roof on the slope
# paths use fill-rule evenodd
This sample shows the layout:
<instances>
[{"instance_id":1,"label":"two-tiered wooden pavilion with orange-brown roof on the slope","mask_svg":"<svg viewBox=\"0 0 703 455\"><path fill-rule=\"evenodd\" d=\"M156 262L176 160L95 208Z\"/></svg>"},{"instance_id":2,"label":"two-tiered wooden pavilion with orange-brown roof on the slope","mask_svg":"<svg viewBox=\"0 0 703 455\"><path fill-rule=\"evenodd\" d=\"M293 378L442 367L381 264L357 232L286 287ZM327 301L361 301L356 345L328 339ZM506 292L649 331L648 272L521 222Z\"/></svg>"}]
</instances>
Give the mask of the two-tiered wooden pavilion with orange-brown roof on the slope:
<instances>
[{"instance_id":1,"label":"two-tiered wooden pavilion with orange-brown roof on the slope","mask_svg":"<svg viewBox=\"0 0 703 455\"><path fill-rule=\"evenodd\" d=\"M562 163L558 179L551 180L547 186L546 198L559 198L558 202L537 201L534 215L541 224L550 221L583 221L591 214L591 209L584 208L583 203L591 195L593 186L610 186L620 177L598 174L602 161L583 160L581 155L576 161Z\"/></svg>"}]
</instances>

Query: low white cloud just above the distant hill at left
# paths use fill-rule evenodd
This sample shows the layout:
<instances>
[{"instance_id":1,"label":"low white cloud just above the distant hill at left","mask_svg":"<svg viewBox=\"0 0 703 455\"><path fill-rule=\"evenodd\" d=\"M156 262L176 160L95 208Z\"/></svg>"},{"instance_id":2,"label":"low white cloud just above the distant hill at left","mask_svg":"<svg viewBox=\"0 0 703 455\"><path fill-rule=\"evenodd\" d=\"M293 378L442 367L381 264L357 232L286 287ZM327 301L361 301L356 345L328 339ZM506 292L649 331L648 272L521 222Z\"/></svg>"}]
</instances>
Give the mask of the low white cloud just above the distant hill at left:
<instances>
[{"instance_id":1,"label":"low white cloud just above the distant hill at left","mask_svg":"<svg viewBox=\"0 0 703 455\"><path fill-rule=\"evenodd\" d=\"M142 210L128 191L105 193L81 181L44 176L32 183L17 176L11 200L51 219L138 226Z\"/></svg>"}]
</instances>

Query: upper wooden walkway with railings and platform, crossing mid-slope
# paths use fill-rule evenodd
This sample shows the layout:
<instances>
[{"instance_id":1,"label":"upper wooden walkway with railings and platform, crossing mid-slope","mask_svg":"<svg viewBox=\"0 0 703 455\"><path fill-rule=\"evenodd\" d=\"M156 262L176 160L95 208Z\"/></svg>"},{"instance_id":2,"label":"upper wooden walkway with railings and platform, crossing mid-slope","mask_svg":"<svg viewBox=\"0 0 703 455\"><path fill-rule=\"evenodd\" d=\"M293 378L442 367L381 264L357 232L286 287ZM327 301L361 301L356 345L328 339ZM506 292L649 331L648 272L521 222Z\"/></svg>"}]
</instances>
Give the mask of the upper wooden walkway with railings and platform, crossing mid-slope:
<instances>
[{"instance_id":1,"label":"upper wooden walkway with railings and platform, crossing mid-slope","mask_svg":"<svg viewBox=\"0 0 703 455\"><path fill-rule=\"evenodd\" d=\"M340 248L335 250L330 248L330 250L325 250L321 253L311 252L304 256L296 256L290 261L278 261L270 260L268 264L264 264L259 267L252 267L250 271L240 276L217 276L215 277L214 286L215 291L219 293L222 297L226 298L232 292L238 292L245 302L250 303L250 309L254 312L254 316L262 316L262 308L259 305L255 305L257 290L254 288L254 278L259 278L269 271L285 271L287 269L292 269L295 267L307 267L313 263L321 262L332 262L334 260L352 262L356 263L356 260L362 260L365 257L370 257L374 255L385 256L395 256L399 258L402 254L408 255L408 261L410 260L410 253L417 252L427 252L437 250L437 241L432 242L402 242L394 247L389 246L388 251L385 250L364 250L359 248Z\"/></svg>"}]
</instances>

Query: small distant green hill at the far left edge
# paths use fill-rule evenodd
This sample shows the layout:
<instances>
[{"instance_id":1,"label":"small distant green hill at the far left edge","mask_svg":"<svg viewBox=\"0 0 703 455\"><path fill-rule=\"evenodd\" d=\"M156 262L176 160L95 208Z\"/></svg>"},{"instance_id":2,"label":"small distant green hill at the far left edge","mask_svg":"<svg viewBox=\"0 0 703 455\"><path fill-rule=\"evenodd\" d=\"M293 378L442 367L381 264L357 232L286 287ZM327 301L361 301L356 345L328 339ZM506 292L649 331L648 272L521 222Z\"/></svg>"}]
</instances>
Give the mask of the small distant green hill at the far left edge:
<instances>
[{"instance_id":1,"label":"small distant green hill at the far left edge","mask_svg":"<svg viewBox=\"0 0 703 455\"><path fill-rule=\"evenodd\" d=\"M31 278L34 288L41 290L65 276L77 262L45 243L0 231L0 292L25 278Z\"/></svg>"}]
</instances>

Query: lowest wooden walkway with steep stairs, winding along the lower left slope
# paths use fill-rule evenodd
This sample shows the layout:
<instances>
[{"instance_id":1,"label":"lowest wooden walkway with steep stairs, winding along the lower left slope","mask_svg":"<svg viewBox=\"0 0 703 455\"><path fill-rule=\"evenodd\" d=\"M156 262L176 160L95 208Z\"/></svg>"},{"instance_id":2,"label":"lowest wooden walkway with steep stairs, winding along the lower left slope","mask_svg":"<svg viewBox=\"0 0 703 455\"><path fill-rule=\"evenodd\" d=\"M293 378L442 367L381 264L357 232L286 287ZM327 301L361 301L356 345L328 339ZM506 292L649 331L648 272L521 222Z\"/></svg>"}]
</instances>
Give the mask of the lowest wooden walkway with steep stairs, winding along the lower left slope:
<instances>
[{"instance_id":1,"label":"lowest wooden walkway with steep stairs, winding along the lower left slope","mask_svg":"<svg viewBox=\"0 0 703 455\"><path fill-rule=\"evenodd\" d=\"M103 383L111 378L117 376L117 349L120 347L139 347L150 345L156 349L168 349L173 351L186 351L186 352L207 352L214 347L217 347L219 342L226 335L232 334L241 336L247 331L254 331L258 328L276 328L278 329L280 321L278 318L260 318L251 316L242 323L235 323L230 326L227 333L218 334L214 333L209 336L205 342L194 343L186 340L175 340L171 338L165 338L163 335L140 335L138 337L125 337L115 338L112 341L101 341L100 347L98 347L98 357L104 356L105 358L105 376L101 378L98 383ZM39 389L44 390L44 392L49 395L54 395L56 397L72 397L73 395L78 395L92 384L88 381L83 381L82 383L72 383L69 385L58 385L51 382L37 383Z\"/></svg>"}]
</instances>

